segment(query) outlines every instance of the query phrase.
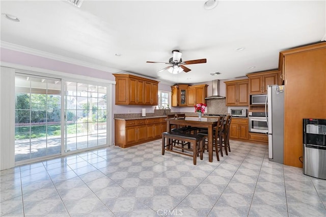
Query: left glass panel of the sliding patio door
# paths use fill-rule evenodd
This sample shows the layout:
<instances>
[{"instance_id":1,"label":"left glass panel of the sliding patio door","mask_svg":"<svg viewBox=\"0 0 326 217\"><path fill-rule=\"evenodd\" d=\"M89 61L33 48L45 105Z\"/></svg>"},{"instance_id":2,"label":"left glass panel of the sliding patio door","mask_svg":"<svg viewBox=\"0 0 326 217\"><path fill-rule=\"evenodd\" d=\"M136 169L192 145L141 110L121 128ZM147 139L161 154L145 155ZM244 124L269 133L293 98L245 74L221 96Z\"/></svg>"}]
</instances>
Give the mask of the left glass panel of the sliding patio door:
<instances>
[{"instance_id":1,"label":"left glass panel of the sliding patio door","mask_svg":"<svg viewBox=\"0 0 326 217\"><path fill-rule=\"evenodd\" d=\"M61 80L15 77L15 161L61 154Z\"/></svg>"}]
</instances>

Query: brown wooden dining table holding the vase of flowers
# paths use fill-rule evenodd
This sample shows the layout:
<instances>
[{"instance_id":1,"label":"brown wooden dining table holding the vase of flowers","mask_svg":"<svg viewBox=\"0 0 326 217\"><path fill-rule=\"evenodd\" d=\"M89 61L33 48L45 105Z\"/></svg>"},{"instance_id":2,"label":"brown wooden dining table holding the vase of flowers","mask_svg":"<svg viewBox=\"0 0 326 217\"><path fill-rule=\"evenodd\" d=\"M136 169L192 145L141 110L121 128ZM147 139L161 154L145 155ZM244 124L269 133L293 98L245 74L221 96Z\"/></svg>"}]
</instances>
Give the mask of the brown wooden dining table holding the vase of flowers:
<instances>
[{"instance_id":1,"label":"brown wooden dining table holding the vase of flowers","mask_svg":"<svg viewBox=\"0 0 326 217\"><path fill-rule=\"evenodd\" d=\"M171 131L171 125L185 125L192 127L203 127L208 129L208 160L213 161L213 128L218 124L218 118L201 118L186 116L185 119L168 118L167 132Z\"/></svg>"}]
</instances>

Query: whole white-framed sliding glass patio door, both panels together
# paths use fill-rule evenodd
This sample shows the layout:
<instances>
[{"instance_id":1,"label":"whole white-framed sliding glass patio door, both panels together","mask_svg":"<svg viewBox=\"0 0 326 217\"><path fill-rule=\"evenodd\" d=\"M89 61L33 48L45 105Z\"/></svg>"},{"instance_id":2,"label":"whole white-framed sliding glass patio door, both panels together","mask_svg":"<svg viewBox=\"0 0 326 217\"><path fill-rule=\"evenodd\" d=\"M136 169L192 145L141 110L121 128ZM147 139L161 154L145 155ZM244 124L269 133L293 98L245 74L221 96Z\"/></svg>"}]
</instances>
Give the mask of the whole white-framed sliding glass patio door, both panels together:
<instances>
[{"instance_id":1,"label":"whole white-framed sliding glass patio door, both panels together","mask_svg":"<svg viewBox=\"0 0 326 217\"><path fill-rule=\"evenodd\" d=\"M106 145L106 96L106 86L16 74L15 161Z\"/></svg>"}]
</instances>

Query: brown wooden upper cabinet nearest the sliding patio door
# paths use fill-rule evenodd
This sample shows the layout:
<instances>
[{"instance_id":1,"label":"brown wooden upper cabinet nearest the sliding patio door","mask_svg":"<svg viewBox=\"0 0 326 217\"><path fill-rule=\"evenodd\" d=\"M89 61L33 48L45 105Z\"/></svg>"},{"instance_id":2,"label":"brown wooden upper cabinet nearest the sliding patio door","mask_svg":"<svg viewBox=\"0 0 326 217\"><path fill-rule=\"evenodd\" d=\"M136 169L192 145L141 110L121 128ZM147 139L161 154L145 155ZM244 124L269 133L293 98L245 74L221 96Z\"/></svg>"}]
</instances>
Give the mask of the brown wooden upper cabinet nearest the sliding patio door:
<instances>
[{"instance_id":1,"label":"brown wooden upper cabinet nearest the sliding patio door","mask_svg":"<svg viewBox=\"0 0 326 217\"><path fill-rule=\"evenodd\" d=\"M130 74L116 77L117 105L157 105L158 82Z\"/></svg>"}]
</instances>

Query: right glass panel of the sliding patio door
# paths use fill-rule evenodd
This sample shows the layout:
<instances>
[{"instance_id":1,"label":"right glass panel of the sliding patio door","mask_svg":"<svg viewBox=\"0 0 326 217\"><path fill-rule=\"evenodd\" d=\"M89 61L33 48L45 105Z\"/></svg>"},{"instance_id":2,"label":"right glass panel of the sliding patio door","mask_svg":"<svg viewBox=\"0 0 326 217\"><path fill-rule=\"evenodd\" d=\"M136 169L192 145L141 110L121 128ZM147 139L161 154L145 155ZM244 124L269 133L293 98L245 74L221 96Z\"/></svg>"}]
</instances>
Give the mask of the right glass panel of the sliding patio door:
<instances>
[{"instance_id":1,"label":"right glass panel of the sliding patio door","mask_svg":"<svg viewBox=\"0 0 326 217\"><path fill-rule=\"evenodd\" d=\"M105 145L106 87L65 82L65 152Z\"/></svg>"}]
</instances>

